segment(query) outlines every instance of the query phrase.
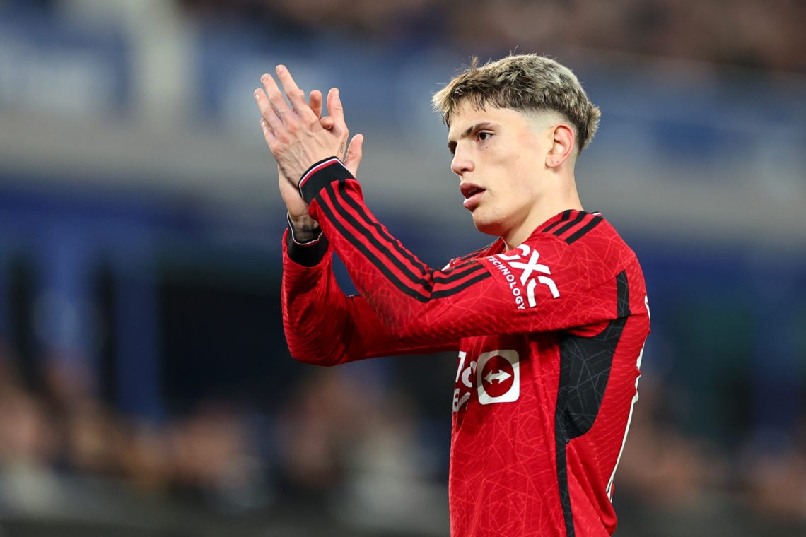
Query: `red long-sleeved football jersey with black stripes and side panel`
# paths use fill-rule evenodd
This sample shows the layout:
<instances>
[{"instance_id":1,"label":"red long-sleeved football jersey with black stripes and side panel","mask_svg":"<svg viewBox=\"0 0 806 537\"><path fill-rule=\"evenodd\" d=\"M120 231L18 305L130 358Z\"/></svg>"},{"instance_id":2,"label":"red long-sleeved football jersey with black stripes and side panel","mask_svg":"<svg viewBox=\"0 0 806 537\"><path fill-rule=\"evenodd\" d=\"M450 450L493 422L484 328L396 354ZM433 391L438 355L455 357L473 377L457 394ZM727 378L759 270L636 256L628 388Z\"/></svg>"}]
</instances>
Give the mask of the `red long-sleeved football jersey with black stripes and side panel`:
<instances>
[{"instance_id":1,"label":"red long-sleeved football jersey with black stripes and side panel","mask_svg":"<svg viewBox=\"0 0 806 537\"><path fill-rule=\"evenodd\" d=\"M301 181L322 227L287 235L283 319L297 360L456 349L451 535L610 535L613 474L649 333L638 260L598 213L567 210L505 251L429 268L364 204L338 159ZM331 248L359 296L334 281Z\"/></svg>"}]
</instances>

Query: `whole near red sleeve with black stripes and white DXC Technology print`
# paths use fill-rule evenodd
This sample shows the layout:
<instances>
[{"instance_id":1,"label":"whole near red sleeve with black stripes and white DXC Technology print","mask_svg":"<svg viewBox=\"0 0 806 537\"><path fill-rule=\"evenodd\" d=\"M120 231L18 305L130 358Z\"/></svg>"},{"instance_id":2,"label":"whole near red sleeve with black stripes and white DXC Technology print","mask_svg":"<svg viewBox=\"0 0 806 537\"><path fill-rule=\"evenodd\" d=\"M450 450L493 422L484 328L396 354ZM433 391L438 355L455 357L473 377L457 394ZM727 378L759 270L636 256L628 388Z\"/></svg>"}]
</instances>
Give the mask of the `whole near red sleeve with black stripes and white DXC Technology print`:
<instances>
[{"instance_id":1,"label":"whole near red sleeve with black stripes and white DXC Technology print","mask_svg":"<svg viewBox=\"0 0 806 537\"><path fill-rule=\"evenodd\" d=\"M559 330L612 319L596 286L615 296L615 280L596 281L553 236L435 270L406 250L364 204L359 183L339 159L314 164L302 196L380 323L418 344L484 334Z\"/></svg>"}]
</instances>

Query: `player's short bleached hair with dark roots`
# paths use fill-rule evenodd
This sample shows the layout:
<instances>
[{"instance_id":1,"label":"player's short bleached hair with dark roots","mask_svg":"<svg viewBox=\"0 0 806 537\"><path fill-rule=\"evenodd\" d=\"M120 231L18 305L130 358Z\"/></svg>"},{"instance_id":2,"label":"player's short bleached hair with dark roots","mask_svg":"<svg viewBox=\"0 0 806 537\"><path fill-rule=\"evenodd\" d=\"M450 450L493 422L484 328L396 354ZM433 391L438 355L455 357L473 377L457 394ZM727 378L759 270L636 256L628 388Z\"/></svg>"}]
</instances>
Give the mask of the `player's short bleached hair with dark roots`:
<instances>
[{"instance_id":1,"label":"player's short bleached hair with dark roots","mask_svg":"<svg viewBox=\"0 0 806 537\"><path fill-rule=\"evenodd\" d=\"M521 112L553 110L575 127L576 144L582 151L599 128L601 112L571 69L537 54L510 54L478 66L478 58L444 88L434 93L434 111L451 126L451 116L464 101L476 109L485 105Z\"/></svg>"}]
</instances>

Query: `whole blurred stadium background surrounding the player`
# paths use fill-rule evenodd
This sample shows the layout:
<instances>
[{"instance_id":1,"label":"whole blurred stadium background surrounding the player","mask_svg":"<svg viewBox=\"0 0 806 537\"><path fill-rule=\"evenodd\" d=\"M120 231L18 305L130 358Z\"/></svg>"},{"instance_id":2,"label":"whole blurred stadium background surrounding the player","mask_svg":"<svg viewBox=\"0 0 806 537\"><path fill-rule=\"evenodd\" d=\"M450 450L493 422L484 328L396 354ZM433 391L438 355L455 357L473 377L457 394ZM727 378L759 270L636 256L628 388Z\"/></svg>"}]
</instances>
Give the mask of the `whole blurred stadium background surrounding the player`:
<instances>
[{"instance_id":1,"label":"whole blurred stadium background surrounding the player","mask_svg":"<svg viewBox=\"0 0 806 537\"><path fill-rule=\"evenodd\" d=\"M489 239L430 95L512 50L600 105L580 192L646 271L617 535L806 535L804 27L801 0L0 0L0 535L447 535L455 357L291 360L251 93L280 62L338 85L368 203L441 265Z\"/></svg>"}]
</instances>

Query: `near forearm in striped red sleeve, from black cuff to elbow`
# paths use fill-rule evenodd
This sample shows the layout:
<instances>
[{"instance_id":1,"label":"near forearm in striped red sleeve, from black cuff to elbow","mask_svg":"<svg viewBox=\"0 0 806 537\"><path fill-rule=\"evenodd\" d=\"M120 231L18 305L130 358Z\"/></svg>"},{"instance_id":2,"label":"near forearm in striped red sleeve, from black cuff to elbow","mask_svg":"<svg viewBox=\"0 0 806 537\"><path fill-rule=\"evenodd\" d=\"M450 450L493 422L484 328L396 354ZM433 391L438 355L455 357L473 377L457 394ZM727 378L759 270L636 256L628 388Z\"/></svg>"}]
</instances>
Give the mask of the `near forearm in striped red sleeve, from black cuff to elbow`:
<instances>
[{"instance_id":1,"label":"near forearm in striped red sleeve, from black cuff to elbow","mask_svg":"<svg viewBox=\"0 0 806 537\"><path fill-rule=\"evenodd\" d=\"M467 263L450 273L431 270L372 216L358 182L335 159L311 167L302 178L301 192L356 287L394 337L415 345L458 343L456 313L475 314L454 297L488 279L483 266Z\"/></svg>"}]
</instances>

